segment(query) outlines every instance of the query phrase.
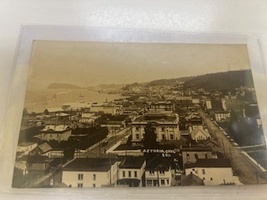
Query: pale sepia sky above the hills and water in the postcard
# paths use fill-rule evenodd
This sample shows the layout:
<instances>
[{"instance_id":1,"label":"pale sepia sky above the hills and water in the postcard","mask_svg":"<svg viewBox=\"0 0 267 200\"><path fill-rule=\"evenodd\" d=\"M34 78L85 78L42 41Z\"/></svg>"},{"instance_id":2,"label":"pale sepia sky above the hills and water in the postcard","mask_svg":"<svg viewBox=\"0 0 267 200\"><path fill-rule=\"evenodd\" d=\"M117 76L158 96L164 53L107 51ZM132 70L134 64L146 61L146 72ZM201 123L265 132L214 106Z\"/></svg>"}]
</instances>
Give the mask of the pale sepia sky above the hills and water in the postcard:
<instances>
[{"instance_id":1,"label":"pale sepia sky above the hills and water in the postcard","mask_svg":"<svg viewBox=\"0 0 267 200\"><path fill-rule=\"evenodd\" d=\"M129 84L250 69L242 44L34 41L29 88Z\"/></svg>"}]
</instances>

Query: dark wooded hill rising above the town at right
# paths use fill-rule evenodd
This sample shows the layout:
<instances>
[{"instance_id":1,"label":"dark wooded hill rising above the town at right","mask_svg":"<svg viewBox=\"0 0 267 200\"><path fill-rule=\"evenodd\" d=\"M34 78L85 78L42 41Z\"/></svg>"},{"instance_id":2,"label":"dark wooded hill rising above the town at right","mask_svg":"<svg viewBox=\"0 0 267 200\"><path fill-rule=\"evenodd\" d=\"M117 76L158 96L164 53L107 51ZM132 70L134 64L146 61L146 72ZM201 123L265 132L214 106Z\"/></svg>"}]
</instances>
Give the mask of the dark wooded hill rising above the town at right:
<instances>
[{"instance_id":1,"label":"dark wooded hill rising above the town at right","mask_svg":"<svg viewBox=\"0 0 267 200\"><path fill-rule=\"evenodd\" d=\"M184 88L207 90L233 89L240 86L254 87L251 70L205 74L184 83Z\"/></svg>"}]
</instances>

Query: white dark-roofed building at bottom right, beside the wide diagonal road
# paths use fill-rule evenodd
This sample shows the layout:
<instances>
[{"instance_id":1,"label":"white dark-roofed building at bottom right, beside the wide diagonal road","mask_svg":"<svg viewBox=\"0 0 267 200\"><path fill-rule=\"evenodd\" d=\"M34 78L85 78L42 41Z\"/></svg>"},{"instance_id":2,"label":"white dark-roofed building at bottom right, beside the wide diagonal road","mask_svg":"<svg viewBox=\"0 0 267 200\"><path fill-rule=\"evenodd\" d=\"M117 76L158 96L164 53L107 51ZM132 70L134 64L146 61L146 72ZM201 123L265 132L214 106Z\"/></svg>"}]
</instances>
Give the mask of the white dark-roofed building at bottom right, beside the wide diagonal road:
<instances>
[{"instance_id":1,"label":"white dark-roofed building at bottom right, beside the wide diagonal road","mask_svg":"<svg viewBox=\"0 0 267 200\"><path fill-rule=\"evenodd\" d=\"M204 185L241 184L233 175L229 159L199 159L185 165L185 175L194 174L203 180Z\"/></svg>"}]
</instances>

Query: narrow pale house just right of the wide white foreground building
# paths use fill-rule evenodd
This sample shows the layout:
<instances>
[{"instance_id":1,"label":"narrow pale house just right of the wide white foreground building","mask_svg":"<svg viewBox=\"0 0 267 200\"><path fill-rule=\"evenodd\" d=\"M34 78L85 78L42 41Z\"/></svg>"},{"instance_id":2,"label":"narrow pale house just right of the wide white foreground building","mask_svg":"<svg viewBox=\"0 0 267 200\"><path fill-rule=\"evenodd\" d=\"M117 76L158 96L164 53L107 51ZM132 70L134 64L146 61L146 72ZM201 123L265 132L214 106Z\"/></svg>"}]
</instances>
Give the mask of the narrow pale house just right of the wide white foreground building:
<instances>
[{"instance_id":1,"label":"narrow pale house just right of the wide white foreground building","mask_svg":"<svg viewBox=\"0 0 267 200\"><path fill-rule=\"evenodd\" d=\"M127 187L144 186L145 178L145 157L127 156L119 165L119 174L117 184Z\"/></svg>"}]
</instances>

